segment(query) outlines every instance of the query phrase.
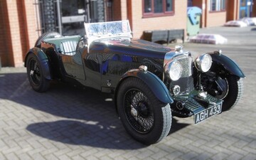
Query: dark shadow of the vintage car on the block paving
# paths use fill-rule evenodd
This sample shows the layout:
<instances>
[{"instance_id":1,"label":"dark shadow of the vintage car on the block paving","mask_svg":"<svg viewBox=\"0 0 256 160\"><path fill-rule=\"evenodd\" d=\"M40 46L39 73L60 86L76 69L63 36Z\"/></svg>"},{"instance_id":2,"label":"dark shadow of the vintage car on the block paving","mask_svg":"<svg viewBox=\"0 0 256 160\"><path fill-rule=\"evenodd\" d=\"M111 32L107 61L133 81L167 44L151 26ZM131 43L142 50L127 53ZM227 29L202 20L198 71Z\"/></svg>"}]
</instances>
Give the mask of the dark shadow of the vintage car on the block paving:
<instances>
[{"instance_id":1,"label":"dark shadow of the vintage car on the block paving","mask_svg":"<svg viewBox=\"0 0 256 160\"><path fill-rule=\"evenodd\" d=\"M48 92L38 93L32 90L26 73L0 74L0 86L1 99L47 113L45 118L36 119L26 127L37 136L65 144L107 149L146 147L127 134L110 94L62 82L53 82ZM170 134L186 126L174 119Z\"/></svg>"}]
</instances>

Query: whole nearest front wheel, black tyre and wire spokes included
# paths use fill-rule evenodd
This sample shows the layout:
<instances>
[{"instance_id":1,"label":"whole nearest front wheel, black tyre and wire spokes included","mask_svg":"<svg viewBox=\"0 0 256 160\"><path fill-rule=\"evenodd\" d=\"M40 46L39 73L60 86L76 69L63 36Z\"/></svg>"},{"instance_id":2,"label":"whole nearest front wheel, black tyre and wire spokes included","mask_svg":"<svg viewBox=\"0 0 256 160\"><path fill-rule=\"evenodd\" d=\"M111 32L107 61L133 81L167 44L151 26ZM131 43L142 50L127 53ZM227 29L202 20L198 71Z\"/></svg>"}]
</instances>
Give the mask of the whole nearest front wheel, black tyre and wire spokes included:
<instances>
[{"instance_id":1,"label":"whole nearest front wheel, black tyre and wire spokes included","mask_svg":"<svg viewBox=\"0 0 256 160\"><path fill-rule=\"evenodd\" d=\"M160 102L142 80L127 78L117 94L119 117L134 139L149 145L169 134L171 107Z\"/></svg>"}]
</instances>

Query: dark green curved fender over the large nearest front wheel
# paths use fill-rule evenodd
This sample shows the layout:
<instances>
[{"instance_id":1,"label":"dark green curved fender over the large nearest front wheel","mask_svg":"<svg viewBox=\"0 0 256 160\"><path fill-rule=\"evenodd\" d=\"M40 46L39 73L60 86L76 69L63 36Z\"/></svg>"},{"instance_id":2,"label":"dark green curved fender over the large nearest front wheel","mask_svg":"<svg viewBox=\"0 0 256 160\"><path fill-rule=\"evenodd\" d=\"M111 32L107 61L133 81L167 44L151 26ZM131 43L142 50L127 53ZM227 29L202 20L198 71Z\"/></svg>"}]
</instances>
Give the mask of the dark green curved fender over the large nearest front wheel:
<instances>
[{"instance_id":1,"label":"dark green curved fender over the large nearest front wheel","mask_svg":"<svg viewBox=\"0 0 256 160\"><path fill-rule=\"evenodd\" d=\"M120 80L119 84L122 83L122 81L129 77L135 77L139 78L143 82L146 83L146 85L149 86L150 90L154 93L154 95L164 103L173 103L174 100L171 98L171 95L169 93L169 90L167 90L166 85L164 85L164 82L162 82L156 75L149 71L143 71L143 70L129 70L127 73L125 73L122 76L122 79ZM118 85L119 86L119 85ZM117 88L118 88L117 86Z\"/></svg>"}]
</instances>

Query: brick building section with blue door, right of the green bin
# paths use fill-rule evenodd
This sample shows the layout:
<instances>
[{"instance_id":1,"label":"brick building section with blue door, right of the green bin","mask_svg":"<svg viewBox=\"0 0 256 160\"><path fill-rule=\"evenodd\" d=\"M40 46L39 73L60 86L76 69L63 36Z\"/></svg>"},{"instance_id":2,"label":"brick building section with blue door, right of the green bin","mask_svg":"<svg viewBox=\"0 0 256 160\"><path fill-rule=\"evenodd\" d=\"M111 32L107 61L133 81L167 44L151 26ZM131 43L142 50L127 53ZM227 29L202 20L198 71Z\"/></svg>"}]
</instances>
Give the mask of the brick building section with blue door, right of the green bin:
<instances>
[{"instance_id":1,"label":"brick building section with blue door, right of the green bin","mask_svg":"<svg viewBox=\"0 0 256 160\"><path fill-rule=\"evenodd\" d=\"M256 16L253 0L196 0L191 4L202 9L201 27L222 26L226 21Z\"/></svg>"}]
</instances>

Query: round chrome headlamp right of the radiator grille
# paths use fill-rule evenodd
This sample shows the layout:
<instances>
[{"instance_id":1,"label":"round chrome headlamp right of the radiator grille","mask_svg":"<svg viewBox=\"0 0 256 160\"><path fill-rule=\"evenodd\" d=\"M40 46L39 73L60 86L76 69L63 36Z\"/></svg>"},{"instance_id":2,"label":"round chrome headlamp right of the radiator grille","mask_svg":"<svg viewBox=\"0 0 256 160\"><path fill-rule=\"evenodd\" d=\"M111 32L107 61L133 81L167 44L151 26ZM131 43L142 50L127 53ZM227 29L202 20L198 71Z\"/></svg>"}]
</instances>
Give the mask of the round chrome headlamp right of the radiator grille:
<instances>
[{"instance_id":1,"label":"round chrome headlamp right of the radiator grille","mask_svg":"<svg viewBox=\"0 0 256 160\"><path fill-rule=\"evenodd\" d=\"M196 69L203 73L206 73L208 70L210 70L212 63L213 60L209 54L200 55L195 60Z\"/></svg>"}]
</instances>

